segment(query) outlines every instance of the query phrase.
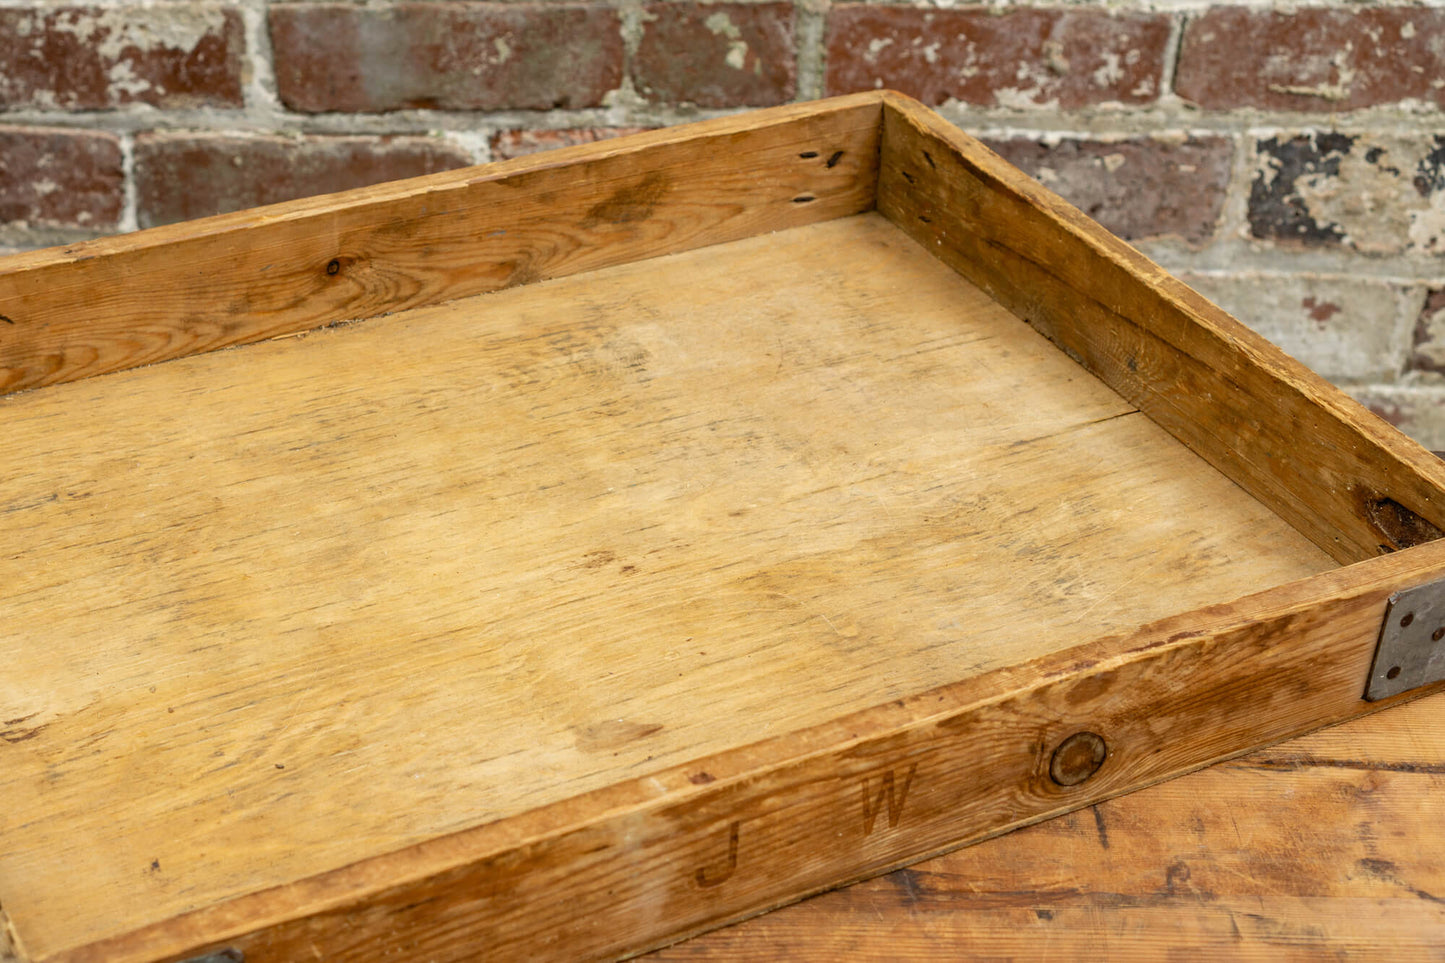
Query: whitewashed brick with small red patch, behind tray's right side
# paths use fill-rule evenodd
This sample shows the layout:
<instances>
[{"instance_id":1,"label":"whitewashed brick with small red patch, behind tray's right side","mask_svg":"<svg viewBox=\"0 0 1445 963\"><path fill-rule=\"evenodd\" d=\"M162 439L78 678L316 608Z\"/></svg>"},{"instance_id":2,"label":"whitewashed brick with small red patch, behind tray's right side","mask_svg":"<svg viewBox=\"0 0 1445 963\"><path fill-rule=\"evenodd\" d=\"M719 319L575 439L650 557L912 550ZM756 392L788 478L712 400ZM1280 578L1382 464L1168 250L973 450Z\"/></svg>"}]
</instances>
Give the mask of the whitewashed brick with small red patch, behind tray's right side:
<instances>
[{"instance_id":1,"label":"whitewashed brick with small red patch, behind tray's right side","mask_svg":"<svg viewBox=\"0 0 1445 963\"><path fill-rule=\"evenodd\" d=\"M1312 275L1195 275L1181 281L1331 380L1393 379L1409 341L1410 291ZM1418 298L1418 295L1416 295Z\"/></svg>"}]
</instances>

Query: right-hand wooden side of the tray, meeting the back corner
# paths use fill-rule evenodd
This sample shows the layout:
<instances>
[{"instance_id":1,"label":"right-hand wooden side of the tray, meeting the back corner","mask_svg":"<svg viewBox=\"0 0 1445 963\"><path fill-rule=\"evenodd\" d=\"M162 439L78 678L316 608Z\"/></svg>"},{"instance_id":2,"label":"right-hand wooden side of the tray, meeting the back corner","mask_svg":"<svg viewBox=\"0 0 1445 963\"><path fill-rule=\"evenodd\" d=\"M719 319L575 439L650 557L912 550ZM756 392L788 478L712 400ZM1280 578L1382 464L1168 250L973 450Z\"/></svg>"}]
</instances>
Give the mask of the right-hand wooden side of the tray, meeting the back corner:
<instances>
[{"instance_id":1,"label":"right-hand wooden side of the tray, meeting the back corner","mask_svg":"<svg viewBox=\"0 0 1445 963\"><path fill-rule=\"evenodd\" d=\"M884 111L879 210L1341 562L1438 538L1445 466L977 140Z\"/></svg>"}]
</instances>

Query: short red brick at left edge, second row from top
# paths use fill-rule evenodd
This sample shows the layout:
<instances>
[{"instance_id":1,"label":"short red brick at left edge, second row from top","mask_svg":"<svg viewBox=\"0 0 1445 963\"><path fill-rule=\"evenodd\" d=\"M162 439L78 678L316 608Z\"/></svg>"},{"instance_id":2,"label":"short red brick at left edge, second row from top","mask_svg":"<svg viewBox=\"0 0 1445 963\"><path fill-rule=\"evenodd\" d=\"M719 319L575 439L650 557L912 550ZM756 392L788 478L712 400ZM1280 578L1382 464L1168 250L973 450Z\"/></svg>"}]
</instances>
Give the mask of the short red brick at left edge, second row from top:
<instances>
[{"instance_id":1,"label":"short red brick at left edge, second row from top","mask_svg":"<svg viewBox=\"0 0 1445 963\"><path fill-rule=\"evenodd\" d=\"M111 230L120 220L123 192L114 136L0 129L0 223Z\"/></svg>"}]
</instances>

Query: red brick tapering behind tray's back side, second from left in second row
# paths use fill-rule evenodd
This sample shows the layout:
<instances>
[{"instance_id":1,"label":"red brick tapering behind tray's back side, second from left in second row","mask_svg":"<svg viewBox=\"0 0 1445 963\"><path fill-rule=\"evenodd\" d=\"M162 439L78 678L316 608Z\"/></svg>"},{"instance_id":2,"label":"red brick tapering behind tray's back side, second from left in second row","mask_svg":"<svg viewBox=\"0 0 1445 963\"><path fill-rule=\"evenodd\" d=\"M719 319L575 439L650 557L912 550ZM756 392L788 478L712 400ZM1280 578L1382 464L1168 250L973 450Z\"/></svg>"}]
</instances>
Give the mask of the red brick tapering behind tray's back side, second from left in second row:
<instances>
[{"instance_id":1,"label":"red brick tapering behind tray's back side, second from left in second row","mask_svg":"<svg viewBox=\"0 0 1445 963\"><path fill-rule=\"evenodd\" d=\"M464 150L431 137L140 134L137 214L150 227L468 163Z\"/></svg>"}]
</instances>

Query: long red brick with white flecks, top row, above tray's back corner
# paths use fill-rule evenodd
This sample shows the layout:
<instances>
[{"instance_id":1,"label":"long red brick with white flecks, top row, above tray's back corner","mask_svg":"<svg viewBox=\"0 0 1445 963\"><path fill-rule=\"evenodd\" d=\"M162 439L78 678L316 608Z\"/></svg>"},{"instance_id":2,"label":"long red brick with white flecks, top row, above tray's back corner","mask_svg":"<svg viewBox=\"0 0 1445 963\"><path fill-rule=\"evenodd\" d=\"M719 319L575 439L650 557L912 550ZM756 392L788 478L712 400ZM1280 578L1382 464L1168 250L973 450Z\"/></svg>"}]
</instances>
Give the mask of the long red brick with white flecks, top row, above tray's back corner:
<instances>
[{"instance_id":1,"label":"long red brick with white flecks, top row, above tray's back corner","mask_svg":"<svg viewBox=\"0 0 1445 963\"><path fill-rule=\"evenodd\" d=\"M890 87L931 106L1146 104L1159 97L1168 40L1169 19L1155 13L840 4L827 88Z\"/></svg>"}]
</instances>

